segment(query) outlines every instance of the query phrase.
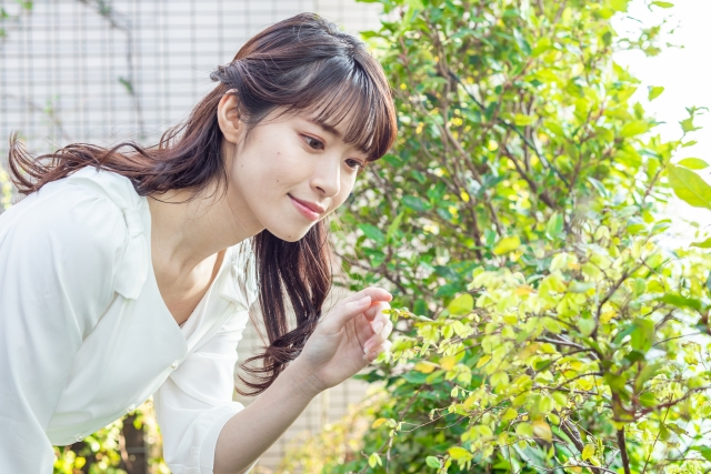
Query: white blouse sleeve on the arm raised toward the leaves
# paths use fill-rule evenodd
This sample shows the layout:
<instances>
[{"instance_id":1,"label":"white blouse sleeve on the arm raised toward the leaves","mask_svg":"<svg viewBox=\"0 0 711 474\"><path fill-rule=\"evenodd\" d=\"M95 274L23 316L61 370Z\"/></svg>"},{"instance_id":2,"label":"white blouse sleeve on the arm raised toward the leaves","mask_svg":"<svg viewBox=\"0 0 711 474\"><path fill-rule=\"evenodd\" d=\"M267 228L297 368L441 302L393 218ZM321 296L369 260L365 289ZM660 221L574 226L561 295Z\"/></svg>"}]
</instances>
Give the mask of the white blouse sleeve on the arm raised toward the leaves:
<instances>
[{"instance_id":1,"label":"white blouse sleeve on the arm raised toward the leaves","mask_svg":"<svg viewBox=\"0 0 711 474\"><path fill-rule=\"evenodd\" d=\"M237 344L248 320L247 311L232 315L153 395L163 457L173 474L211 474L220 431L244 409L232 392Z\"/></svg>"}]
</instances>

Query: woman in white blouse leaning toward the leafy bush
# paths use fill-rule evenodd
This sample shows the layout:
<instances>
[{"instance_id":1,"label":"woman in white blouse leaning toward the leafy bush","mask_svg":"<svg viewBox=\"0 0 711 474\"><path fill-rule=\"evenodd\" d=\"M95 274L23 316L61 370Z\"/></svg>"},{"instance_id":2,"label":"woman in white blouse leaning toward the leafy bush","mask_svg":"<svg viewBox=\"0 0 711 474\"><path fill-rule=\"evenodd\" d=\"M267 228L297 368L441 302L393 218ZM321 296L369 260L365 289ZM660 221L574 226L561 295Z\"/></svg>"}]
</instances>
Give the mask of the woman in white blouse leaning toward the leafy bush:
<instances>
[{"instance_id":1,"label":"woman in white blouse leaning toward the leafy bush","mask_svg":"<svg viewBox=\"0 0 711 474\"><path fill-rule=\"evenodd\" d=\"M0 473L50 473L52 444L151 394L174 474L248 472L313 396L389 350L387 291L321 315L324 218L395 137L382 69L299 14L212 79L156 148L33 159L13 142L11 175L29 195L0 216ZM270 345L247 361L263 376L247 382L261 396L244 409L233 370L253 301Z\"/></svg>"}]
</instances>

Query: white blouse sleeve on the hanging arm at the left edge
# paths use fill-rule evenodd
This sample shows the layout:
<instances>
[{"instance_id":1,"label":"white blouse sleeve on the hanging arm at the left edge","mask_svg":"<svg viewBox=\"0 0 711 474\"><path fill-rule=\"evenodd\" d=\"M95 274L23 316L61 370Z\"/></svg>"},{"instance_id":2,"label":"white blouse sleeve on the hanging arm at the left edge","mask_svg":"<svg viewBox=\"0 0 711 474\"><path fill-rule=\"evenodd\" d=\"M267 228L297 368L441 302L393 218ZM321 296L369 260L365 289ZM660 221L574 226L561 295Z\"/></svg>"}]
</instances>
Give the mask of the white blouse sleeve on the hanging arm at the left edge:
<instances>
[{"instance_id":1,"label":"white blouse sleeve on the hanging arm at the left edge","mask_svg":"<svg viewBox=\"0 0 711 474\"><path fill-rule=\"evenodd\" d=\"M0 215L0 473L51 473L46 430L83 335L113 297L126 222L53 182Z\"/></svg>"}]
</instances>

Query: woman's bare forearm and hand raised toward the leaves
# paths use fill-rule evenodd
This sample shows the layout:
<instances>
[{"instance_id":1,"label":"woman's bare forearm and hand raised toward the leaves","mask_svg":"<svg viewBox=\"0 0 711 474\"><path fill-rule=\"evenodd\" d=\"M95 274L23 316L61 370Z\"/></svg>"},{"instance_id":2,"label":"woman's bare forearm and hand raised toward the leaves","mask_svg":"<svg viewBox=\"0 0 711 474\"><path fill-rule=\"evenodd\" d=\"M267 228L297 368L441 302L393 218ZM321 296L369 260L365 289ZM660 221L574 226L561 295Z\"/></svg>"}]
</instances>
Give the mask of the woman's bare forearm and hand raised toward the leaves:
<instances>
[{"instance_id":1,"label":"woman's bare forearm and hand raised toward the leaves","mask_svg":"<svg viewBox=\"0 0 711 474\"><path fill-rule=\"evenodd\" d=\"M387 351L392 323L382 310L389 307L391 297L384 290L369 288L337 304L319 323L299 357L224 424L214 452L213 473L243 473L316 395L357 374ZM363 347L368 349L367 354Z\"/></svg>"}]
</instances>

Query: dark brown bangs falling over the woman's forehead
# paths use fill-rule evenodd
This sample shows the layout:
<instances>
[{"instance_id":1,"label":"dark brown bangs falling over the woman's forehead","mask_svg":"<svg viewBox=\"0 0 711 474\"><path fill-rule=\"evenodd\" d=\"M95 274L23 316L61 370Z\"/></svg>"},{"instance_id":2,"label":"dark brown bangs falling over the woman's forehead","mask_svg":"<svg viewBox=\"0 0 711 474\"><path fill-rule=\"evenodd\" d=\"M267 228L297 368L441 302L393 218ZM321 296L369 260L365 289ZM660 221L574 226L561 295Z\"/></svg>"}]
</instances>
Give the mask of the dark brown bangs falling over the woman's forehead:
<instances>
[{"instance_id":1,"label":"dark brown bangs falling over the woman's forehead","mask_svg":"<svg viewBox=\"0 0 711 474\"><path fill-rule=\"evenodd\" d=\"M320 65L304 87L303 100L290 109L331 128L348 120L343 141L368 155L368 161L380 159L397 134L388 83L380 83L378 74L369 74L352 59L333 58Z\"/></svg>"}]
</instances>

